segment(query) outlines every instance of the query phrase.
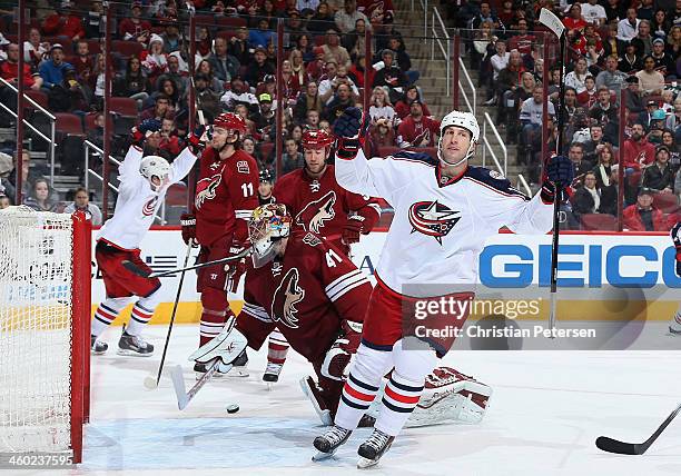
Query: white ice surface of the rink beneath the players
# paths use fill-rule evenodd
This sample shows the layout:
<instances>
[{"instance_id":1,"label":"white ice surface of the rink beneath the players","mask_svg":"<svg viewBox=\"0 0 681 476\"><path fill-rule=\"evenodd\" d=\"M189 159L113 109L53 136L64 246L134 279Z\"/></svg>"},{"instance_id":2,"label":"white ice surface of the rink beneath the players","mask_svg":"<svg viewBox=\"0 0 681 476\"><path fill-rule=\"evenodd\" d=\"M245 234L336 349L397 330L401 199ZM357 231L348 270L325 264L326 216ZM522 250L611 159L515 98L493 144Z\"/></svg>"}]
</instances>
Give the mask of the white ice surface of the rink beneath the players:
<instances>
[{"instance_id":1,"label":"white ice surface of the rink beneath the players","mask_svg":"<svg viewBox=\"0 0 681 476\"><path fill-rule=\"evenodd\" d=\"M278 384L260 380L266 349L249 350L250 377L214 379L184 411L169 376L156 375L165 326L146 336L151 358L115 354L120 328L103 335L109 353L92 358L92 414L85 463L50 474L114 475L327 475L355 474L357 430L336 456L310 460L320 432L298 380L312 371L290 353ZM677 339L669 337L670 339ZM193 381L187 355L196 325L177 326L166 367L180 364ZM678 339L681 347L681 338ZM600 435L642 442L681 400L681 351L453 351L445 363L490 384L491 406L477 426L405 430L369 474L389 475L680 475L681 420L640 457L601 453ZM227 414L237 403L240 410ZM366 474L365 472L361 472ZM3 473L4 474L4 473ZM30 472L18 472L28 475Z\"/></svg>"}]
</instances>

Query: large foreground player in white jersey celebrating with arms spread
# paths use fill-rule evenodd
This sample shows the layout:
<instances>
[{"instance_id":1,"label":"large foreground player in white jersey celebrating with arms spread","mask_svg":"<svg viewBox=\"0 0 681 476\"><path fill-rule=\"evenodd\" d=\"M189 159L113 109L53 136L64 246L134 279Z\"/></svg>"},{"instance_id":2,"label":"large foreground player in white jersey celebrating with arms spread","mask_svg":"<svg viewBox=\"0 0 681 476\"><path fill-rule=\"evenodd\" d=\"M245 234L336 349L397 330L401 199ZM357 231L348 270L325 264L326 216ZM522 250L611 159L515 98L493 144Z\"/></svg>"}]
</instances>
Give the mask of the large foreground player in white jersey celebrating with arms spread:
<instances>
[{"instance_id":1,"label":"large foreground player in white jersey celebrating with arms spread","mask_svg":"<svg viewBox=\"0 0 681 476\"><path fill-rule=\"evenodd\" d=\"M437 331L461 329L465 323L470 306L460 306L456 314L438 303L447 298L465 304L474 297L478 254L501 227L520 234L550 231L554 184L572 180L570 160L552 157L541 192L530 199L501 173L470 166L480 127L468 112L452 111L443 118L436 159L399 152L367 160L362 151L366 130L366 118L357 108L347 109L334 123L336 178L352 192L384 198L395 217L376 266L377 284L335 425L314 440L318 452L332 455L357 427L382 377L394 367L374 432L358 449L361 468L375 465L391 447L418 403L425 377L454 343L453 333L438 336L428 333L428 326ZM414 313L422 304L427 309L435 305L425 329Z\"/></svg>"}]
</instances>

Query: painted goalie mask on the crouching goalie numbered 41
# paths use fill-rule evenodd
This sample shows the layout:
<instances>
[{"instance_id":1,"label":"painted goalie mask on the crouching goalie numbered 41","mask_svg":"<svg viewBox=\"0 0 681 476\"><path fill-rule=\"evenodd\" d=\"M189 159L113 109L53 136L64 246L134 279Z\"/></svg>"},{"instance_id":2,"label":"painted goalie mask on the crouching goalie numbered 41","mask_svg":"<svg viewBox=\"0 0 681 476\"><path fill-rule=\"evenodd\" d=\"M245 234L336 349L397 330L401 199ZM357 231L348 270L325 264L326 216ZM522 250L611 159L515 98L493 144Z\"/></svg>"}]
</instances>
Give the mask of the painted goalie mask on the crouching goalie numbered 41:
<instances>
[{"instance_id":1,"label":"painted goalie mask on the crouching goalie numbered 41","mask_svg":"<svg viewBox=\"0 0 681 476\"><path fill-rule=\"evenodd\" d=\"M253 266L261 268L278 252L283 238L290 232L290 215L284 204L267 204L255 210L248 224L248 238L253 245Z\"/></svg>"}]
</instances>

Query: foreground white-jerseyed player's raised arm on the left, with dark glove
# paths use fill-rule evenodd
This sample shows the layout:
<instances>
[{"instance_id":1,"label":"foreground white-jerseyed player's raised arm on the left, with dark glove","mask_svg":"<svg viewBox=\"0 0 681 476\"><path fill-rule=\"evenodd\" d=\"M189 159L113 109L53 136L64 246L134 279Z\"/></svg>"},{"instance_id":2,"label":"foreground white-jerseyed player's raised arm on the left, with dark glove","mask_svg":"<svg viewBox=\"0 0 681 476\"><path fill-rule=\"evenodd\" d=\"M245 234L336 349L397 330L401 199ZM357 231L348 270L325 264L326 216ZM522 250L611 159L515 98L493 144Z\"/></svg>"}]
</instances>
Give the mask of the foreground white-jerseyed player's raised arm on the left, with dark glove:
<instances>
[{"instance_id":1,"label":"foreground white-jerseyed player's raised arm on the left, with dark glove","mask_svg":"<svg viewBox=\"0 0 681 476\"><path fill-rule=\"evenodd\" d=\"M346 190L394 201L406 185L389 158L367 160L362 150L368 118L358 108L347 108L334 123L336 136L336 180Z\"/></svg>"}]
</instances>

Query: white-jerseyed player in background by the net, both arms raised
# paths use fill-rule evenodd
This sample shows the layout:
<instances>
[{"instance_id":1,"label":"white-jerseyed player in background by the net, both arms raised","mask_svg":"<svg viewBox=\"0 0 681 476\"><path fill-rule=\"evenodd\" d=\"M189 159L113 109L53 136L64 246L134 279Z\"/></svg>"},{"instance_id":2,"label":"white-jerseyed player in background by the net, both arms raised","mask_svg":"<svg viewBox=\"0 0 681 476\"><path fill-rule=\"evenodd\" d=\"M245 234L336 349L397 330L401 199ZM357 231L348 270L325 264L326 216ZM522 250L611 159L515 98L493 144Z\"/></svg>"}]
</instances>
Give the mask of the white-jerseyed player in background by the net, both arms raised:
<instances>
[{"instance_id":1,"label":"white-jerseyed player in background by the net, both arms raised","mask_svg":"<svg viewBox=\"0 0 681 476\"><path fill-rule=\"evenodd\" d=\"M97 307L92 319L92 354L107 351L108 345L97 340L97 337L135 297L138 299L132 307L130 323L118 341L118 354L150 356L154 351L154 346L141 337L141 333L159 303L160 280L140 277L121 264L129 260L139 268L151 271L139 257L140 242L154 222L166 191L191 170L204 145L203 128L199 128L189 135L189 146L171 165L158 156L142 158L144 141L151 133L159 131L160 127L158 120L147 119L132 129L132 145L118 168L120 185L116 210L97 236L95 256L107 297Z\"/></svg>"}]
</instances>

